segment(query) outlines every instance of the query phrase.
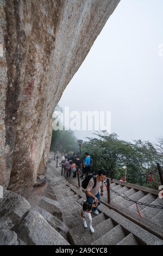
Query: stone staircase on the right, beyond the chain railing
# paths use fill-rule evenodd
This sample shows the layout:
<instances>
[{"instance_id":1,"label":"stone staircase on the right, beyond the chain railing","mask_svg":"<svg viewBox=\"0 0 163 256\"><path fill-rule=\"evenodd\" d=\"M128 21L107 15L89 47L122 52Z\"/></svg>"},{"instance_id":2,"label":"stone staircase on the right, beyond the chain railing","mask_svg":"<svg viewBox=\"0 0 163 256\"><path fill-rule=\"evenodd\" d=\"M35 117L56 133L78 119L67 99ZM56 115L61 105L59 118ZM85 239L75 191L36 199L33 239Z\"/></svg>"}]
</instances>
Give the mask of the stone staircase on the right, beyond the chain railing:
<instances>
[{"instance_id":1,"label":"stone staircase on the right, beyond the chain railing","mask_svg":"<svg viewBox=\"0 0 163 256\"><path fill-rule=\"evenodd\" d=\"M78 186L77 178L70 178L69 182ZM82 180L80 180L80 185ZM105 184L106 185L106 184ZM135 202L142 202L151 205L163 206L163 200L158 197L159 190L143 187L128 182L112 180L110 188L121 196L126 196ZM136 224L151 231L154 235L162 237L163 230L163 210L158 208L149 208L149 206L139 205L140 215L137 212L136 204L123 197L118 196L116 193L110 190L110 203L108 203L108 193L106 186L104 186L104 196L101 198L102 202L112 210L115 210L124 217L129 218Z\"/></svg>"}]
</instances>

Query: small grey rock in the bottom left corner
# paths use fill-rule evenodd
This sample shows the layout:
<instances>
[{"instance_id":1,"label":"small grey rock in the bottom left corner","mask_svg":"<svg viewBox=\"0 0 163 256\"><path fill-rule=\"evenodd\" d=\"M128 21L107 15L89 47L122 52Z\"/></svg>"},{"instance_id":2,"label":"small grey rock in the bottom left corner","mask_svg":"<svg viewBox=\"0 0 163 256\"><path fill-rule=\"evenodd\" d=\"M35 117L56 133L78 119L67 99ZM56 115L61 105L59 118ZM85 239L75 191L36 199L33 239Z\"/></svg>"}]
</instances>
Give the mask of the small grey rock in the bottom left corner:
<instances>
[{"instance_id":1,"label":"small grey rock in the bottom left corner","mask_svg":"<svg viewBox=\"0 0 163 256\"><path fill-rule=\"evenodd\" d=\"M16 233L10 229L1 229L0 245L18 245Z\"/></svg>"}]
</instances>

